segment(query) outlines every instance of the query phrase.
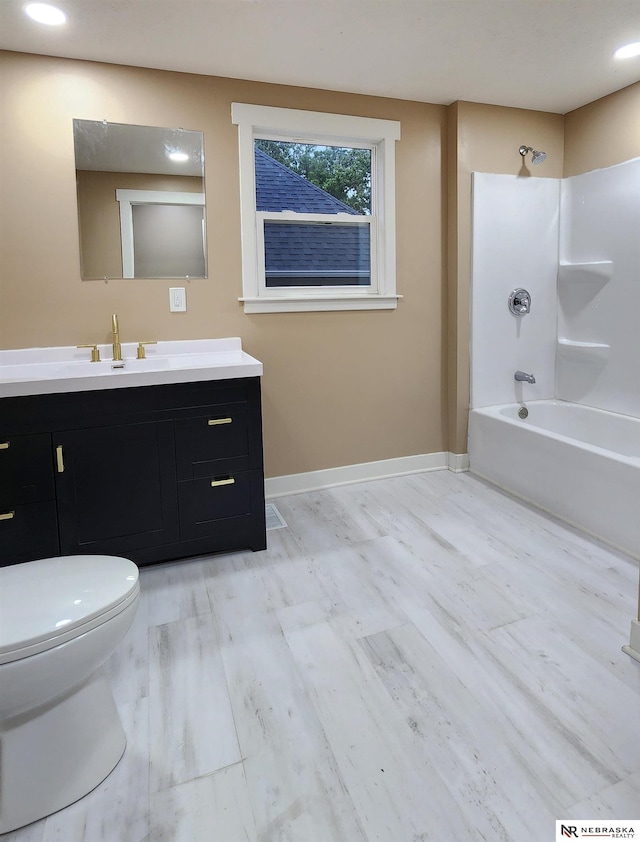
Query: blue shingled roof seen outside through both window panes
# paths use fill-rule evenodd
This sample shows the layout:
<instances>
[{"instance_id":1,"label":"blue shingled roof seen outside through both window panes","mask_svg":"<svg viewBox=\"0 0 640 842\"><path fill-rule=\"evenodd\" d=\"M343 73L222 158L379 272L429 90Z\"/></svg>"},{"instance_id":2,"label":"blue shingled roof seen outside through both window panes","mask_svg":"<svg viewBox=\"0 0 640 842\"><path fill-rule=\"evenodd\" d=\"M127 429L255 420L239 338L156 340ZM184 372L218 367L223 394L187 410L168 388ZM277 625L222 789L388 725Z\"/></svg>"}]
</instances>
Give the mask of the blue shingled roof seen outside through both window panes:
<instances>
[{"instance_id":1,"label":"blue shingled roof seen outside through both window panes","mask_svg":"<svg viewBox=\"0 0 640 842\"><path fill-rule=\"evenodd\" d=\"M256 147L259 211L357 211ZM370 283L369 226L268 221L264 231L267 286Z\"/></svg>"}]
</instances>

